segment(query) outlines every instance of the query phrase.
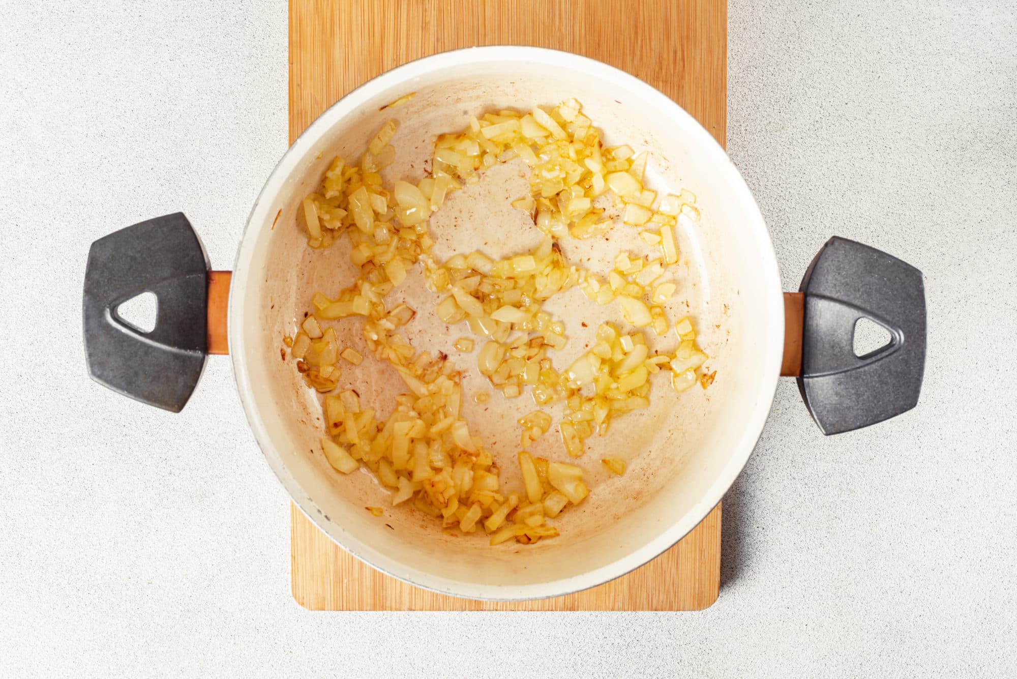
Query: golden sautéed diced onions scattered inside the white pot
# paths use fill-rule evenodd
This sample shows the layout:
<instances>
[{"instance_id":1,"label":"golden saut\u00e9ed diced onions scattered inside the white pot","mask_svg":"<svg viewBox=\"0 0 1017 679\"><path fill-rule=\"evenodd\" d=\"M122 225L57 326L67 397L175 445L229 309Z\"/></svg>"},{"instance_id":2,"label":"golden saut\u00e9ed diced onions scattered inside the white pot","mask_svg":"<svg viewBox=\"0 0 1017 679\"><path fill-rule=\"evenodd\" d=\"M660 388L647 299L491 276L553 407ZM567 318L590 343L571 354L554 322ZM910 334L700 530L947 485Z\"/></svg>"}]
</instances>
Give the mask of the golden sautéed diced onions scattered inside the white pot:
<instances>
[{"instance_id":1,"label":"golden saut\u00e9ed diced onions scattered inside the white pot","mask_svg":"<svg viewBox=\"0 0 1017 679\"><path fill-rule=\"evenodd\" d=\"M651 375L669 368L672 386L683 390L697 381L706 388L716 372L697 374L708 357L697 347L687 318L675 323L677 347L666 350L673 353L655 348L652 356L644 331L629 328L622 334L610 323L602 324L586 352L558 372L548 352L563 349L569 332L543 304L579 287L599 305L618 299L626 322L652 327L663 336L668 330L665 305L677 287L657 281L677 262L673 229L678 218L699 220L696 197L682 189L658 201L656 191L643 185L649 153L637 156L625 144L604 148L600 130L574 99L553 110L470 116L463 131L436 138L431 172L416 185L386 185L379 174L395 161L397 149L390 142L397 129L396 121L385 122L359 164L336 158L321 188L302 205L308 244L330 247L345 235L350 261L360 269L355 285L335 298L314 294L313 314L304 314L300 327L290 330L293 338L284 343L304 381L326 394L322 452L340 473L368 468L394 489L394 505L410 500L413 510L439 519L443 529L458 526L469 534L482 526L491 544L552 538L558 531L546 520L570 503L582 502L589 488L581 468L533 457L526 450L549 431L551 416L536 410L519 418L524 497L503 494L494 457L463 419L462 366L444 353L432 356L411 346L406 337L413 330L400 328L411 323L415 311L406 304L388 309L385 297L406 283L413 266L422 264L426 287L441 296L437 317L447 324L466 321L474 335L486 337L477 367L491 386L507 398L529 390L538 408L561 403L561 445L578 457L585 439L606 433L615 417L649 407ZM530 252L499 260L474 251L436 262L430 254L431 213L451 192L476 184L485 169L516 158L529 166L531 194L513 206L531 215L546 238ZM594 206L595 198L608 190L614 193L614 206L602 200ZM640 231L640 239L659 247L660 257L622 252L614 269L599 275L566 261L556 239L608 238L619 213L632 226L652 224L653 231ZM375 420L373 407L368 408L373 404L362 407L356 391L335 392L342 374L339 360L361 365L365 356L342 348L334 327L338 324L324 321L347 322L342 319L354 316L361 318L357 323L362 324L366 351L390 364L406 385L383 420ZM464 353L476 347L471 337L453 345ZM489 395L473 390L472 399L485 404ZM602 464L613 474L625 469L617 457L605 457ZM379 507L367 510L383 513Z\"/></svg>"}]
</instances>

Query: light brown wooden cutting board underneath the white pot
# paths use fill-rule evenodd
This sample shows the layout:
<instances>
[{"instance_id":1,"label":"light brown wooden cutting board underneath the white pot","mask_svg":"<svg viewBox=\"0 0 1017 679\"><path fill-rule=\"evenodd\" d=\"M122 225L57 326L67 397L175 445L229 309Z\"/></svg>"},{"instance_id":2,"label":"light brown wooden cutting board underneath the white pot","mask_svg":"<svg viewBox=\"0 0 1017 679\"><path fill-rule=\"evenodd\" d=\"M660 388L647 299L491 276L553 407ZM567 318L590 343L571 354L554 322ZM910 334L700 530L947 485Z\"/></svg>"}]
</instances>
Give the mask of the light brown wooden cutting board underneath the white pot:
<instances>
[{"instance_id":1,"label":"light brown wooden cutting board underneath the white pot","mask_svg":"<svg viewBox=\"0 0 1017 679\"><path fill-rule=\"evenodd\" d=\"M726 0L290 0L290 142L362 82L412 59L477 45L599 59L661 89L725 142ZM702 610L720 588L720 512L718 504L677 545L611 582L506 604L437 595L385 575L292 506L293 597L315 611Z\"/></svg>"}]
</instances>

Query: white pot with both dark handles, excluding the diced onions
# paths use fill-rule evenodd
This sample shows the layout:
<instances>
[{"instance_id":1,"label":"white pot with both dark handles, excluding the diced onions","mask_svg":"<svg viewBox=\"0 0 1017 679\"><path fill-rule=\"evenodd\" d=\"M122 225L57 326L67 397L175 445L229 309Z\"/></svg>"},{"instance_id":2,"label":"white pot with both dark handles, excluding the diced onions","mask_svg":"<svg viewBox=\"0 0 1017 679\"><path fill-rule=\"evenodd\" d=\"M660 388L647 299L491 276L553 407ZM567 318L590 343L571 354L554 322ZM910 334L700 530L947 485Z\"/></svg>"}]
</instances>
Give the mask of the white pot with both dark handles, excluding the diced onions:
<instances>
[{"instance_id":1,"label":"white pot with both dark handles, excluding the diced onions","mask_svg":"<svg viewBox=\"0 0 1017 679\"><path fill-rule=\"evenodd\" d=\"M411 92L415 96L399 109L380 110ZM482 535L448 535L411 507L388 507L388 492L367 472L339 475L323 459L317 443L322 431L318 396L304 386L280 349L283 336L295 333L313 292L334 295L350 285L356 270L340 245L308 249L298 213L332 159L359 158L390 118L400 121L392 141L398 158L383 175L386 181L407 176L415 181L422 176L433 135L464 127L469 115L529 110L566 98L583 104L608 144L629 143L650 152L651 188L687 188L697 195L701 221L682 220L677 229L679 292L668 311L672 319L685 314L695 319L717 376L709 389L681 394L658 385L650 409L618 418L606 436L588 439L589 450L580 464L587 469L592 492L556 520L559 538L532 547L512 543L491 548ZM502 176L488 177L480 187L454 194L432 218L439 258L473 249L504 255L539 242L532 223L508 205L521 195L510 195L513 191L525 190L525 176L511 169L499 172ZM85 282L93 376L171 410L183 407L210 350L202 341L212 327L204 323L204 314L213 313L204 303L212 288L206 280L202 288L206 266L203 254L194 252L197 239L191 242L189 230L186 219L176 214L97 241ZM154 239L159 244L153 245ZM149 246L146 253L135 252L143 245ZM619 249L639 250L640 245L638 239L622 237L562 243L566 256L589 258L587 265L594 268ZM158 264L152 262L152 247L165 250ZM496 600L554 597L639 567L710 512L753 451L782 362L792 374L801 365L806 403L828 433L864 426L914 405L922 365L916 357L924 352L923 293L915 292L915 285L921 290L920 272L850 241L834 239L825 252L810 270L817 290L810 290L806 275L803 296L789 298L797 312L785 319L773 245L752 193L723 148L674 102L627 73L573 54L524 47L459 50L405 64L358 87L325 111L283 156L254 203L240 243L229 289L229 353L244 411L265 458L293 501L339 545L386 573L436 592ZM824 265L824 257L832 264ZM868 281L859 279L865 275ZM888 275L897 276L894 286L887 286ZM174 283L168 287L167 281ZM428 297L421 282L420 273L414 273L392 300L406 300L419 310L408 329L418 350L448 351L445 345L468 331L434 318L431 309L438 298ZM145 290L160 299L160 325L152 333L140 333L116 313L120 302ZM564 365L582 350L597 322L619 316L616 309L592 305L579 290L572 292L548 305L570 336L570 347L556 359ZM189 296L186 302L181 301L184 295ZM843 350L845 337L850 345L853 321L861 316L886 326L893 337L890 345L860 358L824 350ZM183 327L187 319L193 322ZM786 320L795 328L788 352L800 347L804 357L785 356ZM804 336L798 329L802 320ZM357 324L338 325L337 331L345 345L360 348ZM908 359L906 365L895 368L902 358ZM476 361L460 360L467 371L467 391L481 389ZM142 380L146 386L140 385ZM345 369L343 384L357 388L381 412L401 390L395 373L371 360ZM851 399L875 399L883 408L852 406ZM467 402L465 416L498 460L504 483L518 483L515 420L532 410L532 403L526 396L492 397L483 406ZM834 417L837 413L841 415ZM534 446L535 452L566 459L550 433ZM599 459L608 452L627 458L624 476L608 478L601 468ZM384 506L383 519L365 511L366 505Z\"/></svg>"}]
</instances>

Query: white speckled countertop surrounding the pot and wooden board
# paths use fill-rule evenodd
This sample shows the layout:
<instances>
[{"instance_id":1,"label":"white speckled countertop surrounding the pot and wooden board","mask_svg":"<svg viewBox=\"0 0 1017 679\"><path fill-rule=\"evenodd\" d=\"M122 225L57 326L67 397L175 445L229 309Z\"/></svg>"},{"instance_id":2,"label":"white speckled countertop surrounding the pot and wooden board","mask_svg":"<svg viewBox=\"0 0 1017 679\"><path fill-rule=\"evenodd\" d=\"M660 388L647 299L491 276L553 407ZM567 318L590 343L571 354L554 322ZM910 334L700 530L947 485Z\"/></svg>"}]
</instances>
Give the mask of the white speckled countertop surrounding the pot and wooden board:
<instances>
[{"instance_id":1,"label":"white speckled countertop surrounding the pot and wooden board","mask_svg":"<svg viewBox=\"0 0 1017 679\"><path fill-rule=\"evenodd\" d=\"M230 267L286 148L286 3L0 14L0 677L1017 675L1017 3L732 0L729 149L785 288L832 234L918 266L924 391L825 438L782 382L720 600L620 615L299 608L228 362L169 415L80 341L102 235L184 209Z\"/></svg>"}]
</instances>

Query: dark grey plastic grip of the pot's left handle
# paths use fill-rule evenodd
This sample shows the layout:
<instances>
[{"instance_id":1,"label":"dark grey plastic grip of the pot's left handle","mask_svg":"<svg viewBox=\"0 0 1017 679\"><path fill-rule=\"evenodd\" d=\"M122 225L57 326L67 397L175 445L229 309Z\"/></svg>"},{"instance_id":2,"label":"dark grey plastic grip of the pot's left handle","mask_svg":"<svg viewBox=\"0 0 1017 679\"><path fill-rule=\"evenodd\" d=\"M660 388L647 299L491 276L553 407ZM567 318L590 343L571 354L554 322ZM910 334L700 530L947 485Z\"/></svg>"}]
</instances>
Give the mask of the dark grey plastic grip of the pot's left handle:
<instances>
[{"instance_id":1,"label":"dark grey plastic grip of the pot's left handle","mask_svg":"<svg viewBox=\"0 0 1017 679\"><path fill-rule=\"evenodd\" d=\"M156 325L143 332L117 307L151 292ZM208 261L182 212L135 224L92 244L84 273L84 353L92 378L179 413L206 356Z\"/></svg>"}]
</instances>

